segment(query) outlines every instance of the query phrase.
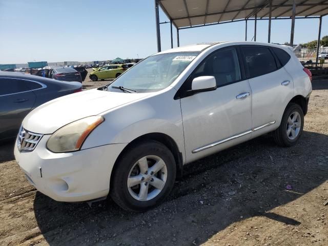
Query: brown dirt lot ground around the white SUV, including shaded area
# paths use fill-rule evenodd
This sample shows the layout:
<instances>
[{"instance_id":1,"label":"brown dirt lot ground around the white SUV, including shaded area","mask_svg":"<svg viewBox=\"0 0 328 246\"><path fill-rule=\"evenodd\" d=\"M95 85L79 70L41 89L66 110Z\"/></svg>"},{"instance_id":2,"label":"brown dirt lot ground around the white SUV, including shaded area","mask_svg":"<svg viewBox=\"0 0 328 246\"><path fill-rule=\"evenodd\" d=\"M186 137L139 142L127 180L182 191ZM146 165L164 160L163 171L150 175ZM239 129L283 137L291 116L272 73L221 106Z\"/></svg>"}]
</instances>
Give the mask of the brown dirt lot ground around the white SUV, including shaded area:
<instances>
[{"instance_id":1,"label":"brown dirt lot ground around the white SUV, including shaded area","mask_svg":"<svg viewBox=\"0 0 328 246\"><path fill-rule=\"evenodd\" d=\"M3 144L0 245L328 245L328 80L313 85L295 147L262 136L191 163L144 214L54 201L26 181L14 143Z\"/></svg>"}]
</instances>

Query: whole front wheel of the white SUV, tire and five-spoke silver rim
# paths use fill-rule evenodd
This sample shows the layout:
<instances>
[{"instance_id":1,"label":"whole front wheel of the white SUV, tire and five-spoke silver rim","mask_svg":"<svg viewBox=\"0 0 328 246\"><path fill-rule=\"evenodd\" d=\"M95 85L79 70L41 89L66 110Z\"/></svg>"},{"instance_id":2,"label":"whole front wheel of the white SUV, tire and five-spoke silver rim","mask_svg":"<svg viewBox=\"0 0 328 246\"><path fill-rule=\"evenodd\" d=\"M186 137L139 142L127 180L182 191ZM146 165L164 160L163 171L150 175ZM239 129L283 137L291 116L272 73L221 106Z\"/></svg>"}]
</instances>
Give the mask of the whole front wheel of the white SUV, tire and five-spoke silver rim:
<instances>
[{"instance_id":1,"label":"whole front wheel of the white SUV, tire and five-spoke silver rim","mask_svg":"<svg viewBox=\"0 0 328 246\"><path fill-rule=\"evenodd\" d=\"M172 152L160 142L142 142L115 164L111 197L122 209L142 212L157 206L171 192L176 165Z\"/></svg>"}]
</instances>

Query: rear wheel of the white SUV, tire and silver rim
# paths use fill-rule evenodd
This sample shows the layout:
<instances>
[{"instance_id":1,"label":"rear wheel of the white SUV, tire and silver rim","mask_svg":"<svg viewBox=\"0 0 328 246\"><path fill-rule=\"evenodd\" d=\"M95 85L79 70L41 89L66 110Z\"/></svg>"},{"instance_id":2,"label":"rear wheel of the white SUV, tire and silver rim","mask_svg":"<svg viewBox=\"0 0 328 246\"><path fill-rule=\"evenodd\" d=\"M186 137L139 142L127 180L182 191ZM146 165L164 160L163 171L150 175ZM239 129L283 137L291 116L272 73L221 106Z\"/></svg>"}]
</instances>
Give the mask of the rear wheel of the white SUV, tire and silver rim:
<instances>
[{"instance_id":1,"label":"rear wheel of the white SUV, tire and silver rim","mask_svg":"<svg viewBox=\"0 0 328 246\"><path fill-rule=\"evenodd\" d=\"M273 132L277 145L290 147L296 144L303 132L304 113L298 104L290 103L283 113L280 126Z\"/></svg>"}]
</instances>

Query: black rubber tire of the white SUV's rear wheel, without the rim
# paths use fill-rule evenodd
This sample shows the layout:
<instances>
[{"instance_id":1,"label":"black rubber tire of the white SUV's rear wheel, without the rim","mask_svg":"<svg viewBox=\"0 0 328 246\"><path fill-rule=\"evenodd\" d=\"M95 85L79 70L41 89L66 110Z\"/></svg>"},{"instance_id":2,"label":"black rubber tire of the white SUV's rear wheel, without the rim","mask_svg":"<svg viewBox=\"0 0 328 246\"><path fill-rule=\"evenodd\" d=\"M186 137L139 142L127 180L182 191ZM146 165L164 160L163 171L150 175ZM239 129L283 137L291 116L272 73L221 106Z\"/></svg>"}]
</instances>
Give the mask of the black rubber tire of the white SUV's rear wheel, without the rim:
<instances>
[{"instance_id":1,"label":"black rubber tire of the white SUV's rear wheel, without the rim","mask_svg":"<svg viewBox=\"0 0 328 246\"><path fill-rule=\"evenodd\" d=\"M288 129L288 119L291 116L291 114L294 112L299 113L300 120L301 120L300 121L301 126L300 126L297 136L294 139L290 139L286 130ZM303 132L303 126L304 126L304 113L303 113L302 108L298 104L290 103L286 107L286 109L282 115L282 119L281 119L279 128L273 132L273 138L274 138L276 144L281 147L291 147L291 146L295 145L297 140L299 139L299 137L301 136L301 134Z\"/></svg>"}]
</instances>

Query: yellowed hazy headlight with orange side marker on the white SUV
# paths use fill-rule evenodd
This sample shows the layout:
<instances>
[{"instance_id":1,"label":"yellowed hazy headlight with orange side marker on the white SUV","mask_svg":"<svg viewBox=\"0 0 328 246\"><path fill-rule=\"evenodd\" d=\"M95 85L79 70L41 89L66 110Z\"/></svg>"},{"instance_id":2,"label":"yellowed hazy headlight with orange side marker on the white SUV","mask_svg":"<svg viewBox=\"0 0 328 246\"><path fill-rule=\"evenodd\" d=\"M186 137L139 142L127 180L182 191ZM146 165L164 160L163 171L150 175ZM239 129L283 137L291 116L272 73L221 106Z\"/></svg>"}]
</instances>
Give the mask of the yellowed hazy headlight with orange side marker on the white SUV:
<instances>
[{"instance_id":1,"label":"yellowed hazy headlight with orange side marker on the white SUV","mask_svg":"<svg viewBox=\"0 0 328 246\"><path fill-rule=\"evenodd\" d=\"M93 129L104 120L102 116L90 116L59 128L48 139L47 148L55 153L77 151Z\"/></svg>"}]
</instances>

